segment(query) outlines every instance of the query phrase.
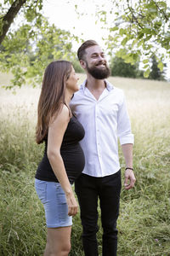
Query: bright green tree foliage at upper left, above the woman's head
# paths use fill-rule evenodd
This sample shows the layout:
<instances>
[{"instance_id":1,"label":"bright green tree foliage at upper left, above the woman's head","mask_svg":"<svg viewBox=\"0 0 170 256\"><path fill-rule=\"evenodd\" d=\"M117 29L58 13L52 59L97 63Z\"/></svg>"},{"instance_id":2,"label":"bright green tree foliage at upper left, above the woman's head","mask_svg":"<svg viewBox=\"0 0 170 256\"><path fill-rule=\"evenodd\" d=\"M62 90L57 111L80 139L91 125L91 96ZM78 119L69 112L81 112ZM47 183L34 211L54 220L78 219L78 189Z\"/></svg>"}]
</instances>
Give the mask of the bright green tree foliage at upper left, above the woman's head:
<instances>
[{"instance_id":1,"label":"bright green tree foliage at upper left, above the woman's head","mask_svg":"<svg viewBox=\"0 0 170 256\"><path fill-rule=\"evenodd\" d=\"M49 62L58 59L69 61L75 59L71 47L72 41L77 40L77 37L54 25L49 25L48 20L41 13L37 14L37 6L42 9L42 1L26 2L20 10L24 21L17 29L8 31L0 47L1 71L10 70L14 74L12 84L6 88L26 84L26 79L29 79L32 85L40 84L44 69Z\"/></svg>"}]
</instances>

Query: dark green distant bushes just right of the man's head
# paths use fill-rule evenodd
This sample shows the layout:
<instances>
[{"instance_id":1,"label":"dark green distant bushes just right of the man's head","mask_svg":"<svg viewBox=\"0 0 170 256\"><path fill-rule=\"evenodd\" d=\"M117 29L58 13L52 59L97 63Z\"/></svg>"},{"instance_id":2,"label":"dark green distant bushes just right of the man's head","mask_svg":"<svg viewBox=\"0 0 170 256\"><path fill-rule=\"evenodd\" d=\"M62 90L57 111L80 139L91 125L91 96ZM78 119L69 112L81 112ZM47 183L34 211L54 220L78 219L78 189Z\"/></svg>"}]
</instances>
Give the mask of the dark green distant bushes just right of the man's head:
<instances>
[{"instance_id":1,"label":"dark green distant bushes just right of the man's head","mask_svg":"<svg viewBox=\"0 0 170 256\"><path fill-rule=\"evenodd\" d=\"M114 77L143 78L143 72L139 70L139 63L136 62L132 65L118 57L111 59L111 75Z\"/></svg>"}]
</instances>

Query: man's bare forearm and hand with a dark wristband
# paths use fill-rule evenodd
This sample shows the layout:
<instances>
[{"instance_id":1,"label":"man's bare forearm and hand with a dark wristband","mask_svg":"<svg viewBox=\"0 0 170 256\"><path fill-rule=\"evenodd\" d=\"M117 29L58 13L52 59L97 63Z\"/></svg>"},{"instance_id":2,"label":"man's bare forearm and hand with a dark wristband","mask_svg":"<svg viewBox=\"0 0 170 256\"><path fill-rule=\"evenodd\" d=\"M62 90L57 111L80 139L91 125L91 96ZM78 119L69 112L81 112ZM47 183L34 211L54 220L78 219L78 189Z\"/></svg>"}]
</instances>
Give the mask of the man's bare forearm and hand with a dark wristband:
<instances>
[{"instance_id":1,"label":"man's bare forearm and hand with a dark wristband","mask_svg":"<svg viewBox=\"0 0 170 256\"><path fill-rule=\"evenodd\" d=\"M133 168L133 144L122 144L122 154L124 155L126 168ZM133 170L127 169L125 171L125 189L132 189L134 187L135 181L136 178L134 177Z\"/></svg>"}]
</instances>

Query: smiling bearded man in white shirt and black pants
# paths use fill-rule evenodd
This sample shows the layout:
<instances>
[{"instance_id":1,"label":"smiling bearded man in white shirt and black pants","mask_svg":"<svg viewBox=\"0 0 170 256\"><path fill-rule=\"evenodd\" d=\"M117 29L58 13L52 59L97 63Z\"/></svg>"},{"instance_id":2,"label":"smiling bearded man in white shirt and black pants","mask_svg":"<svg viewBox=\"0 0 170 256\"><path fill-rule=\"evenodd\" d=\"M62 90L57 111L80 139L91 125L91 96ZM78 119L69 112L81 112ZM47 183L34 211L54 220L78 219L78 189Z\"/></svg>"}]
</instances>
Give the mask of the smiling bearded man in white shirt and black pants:
<instances>
[{"instance_id":1,"label":"smiling bearded man in white shirt and black pants","mask_svg":"<svg viewBox=\"0 0 170 256\"><path fill-rule=\"evenodd\" d=\"M88 40L78 49L77 55L87 73L86 81L71 101L71 109L85 129L81 145L86 164L75 183L81 208L82 244L86 256L99 255L96 239L99 199L103 256L115 256L121 192L117 137L126 162L124 186L131 189L135 183L133 134L122 90L105 80L110 69L99 44Z\"/></svg>"}]
</instances>

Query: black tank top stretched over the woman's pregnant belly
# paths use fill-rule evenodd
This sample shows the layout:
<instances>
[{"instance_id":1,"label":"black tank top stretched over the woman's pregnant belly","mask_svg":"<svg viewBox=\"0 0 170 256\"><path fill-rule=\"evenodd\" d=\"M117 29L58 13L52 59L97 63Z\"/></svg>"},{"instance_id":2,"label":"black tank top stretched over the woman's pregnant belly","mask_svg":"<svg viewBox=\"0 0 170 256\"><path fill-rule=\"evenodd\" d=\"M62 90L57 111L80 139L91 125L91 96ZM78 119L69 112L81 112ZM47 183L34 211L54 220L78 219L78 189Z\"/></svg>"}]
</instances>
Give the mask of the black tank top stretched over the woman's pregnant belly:
<instances>
[{"instance_id":1,"label":"black tank top stretched over the woman's pregnant belly","mask_svg":"<svg viewBox=\"0 0 170 256\"><path fill-rule=\"evenodd\" d=\"M65 171L71 184L81 174L85 165L84 154L79 144L79 141L84 137L84 133L82 125L73 115L67 125L60 148ZM44 155L37 167L36 178L44 181L59 182L48 160L47 145L48 139L46 138Z\"/></svg>"}]
</instances>

